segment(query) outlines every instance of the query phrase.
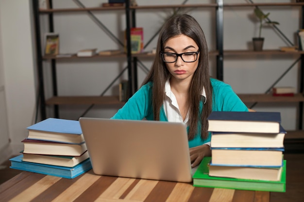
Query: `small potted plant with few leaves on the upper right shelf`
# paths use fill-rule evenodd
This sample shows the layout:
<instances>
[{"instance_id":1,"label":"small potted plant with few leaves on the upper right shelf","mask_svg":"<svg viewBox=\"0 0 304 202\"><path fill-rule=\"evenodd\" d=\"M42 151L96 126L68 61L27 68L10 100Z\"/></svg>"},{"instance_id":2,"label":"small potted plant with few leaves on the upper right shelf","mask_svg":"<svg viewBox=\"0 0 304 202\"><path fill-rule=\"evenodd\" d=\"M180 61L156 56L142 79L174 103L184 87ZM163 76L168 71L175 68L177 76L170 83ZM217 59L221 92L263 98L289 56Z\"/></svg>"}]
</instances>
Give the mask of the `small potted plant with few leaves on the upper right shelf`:
<instances>
[{"instance_id":1,"label":"small potted plant with few leaves on the upper right shelf","mask_svg":"<svg viewBox=\"0 0 304 202\"><path fill-rule=\"evenodd\" d=\"M261 51L263 49L264 37L261 37L262 27L264 25L279 25L278 22L268 20L268 14L264 14L258 7L254 9L254 14L259 20L259 35L258 37L253 37L253 50Z\"/></svg>"}]
</instances>

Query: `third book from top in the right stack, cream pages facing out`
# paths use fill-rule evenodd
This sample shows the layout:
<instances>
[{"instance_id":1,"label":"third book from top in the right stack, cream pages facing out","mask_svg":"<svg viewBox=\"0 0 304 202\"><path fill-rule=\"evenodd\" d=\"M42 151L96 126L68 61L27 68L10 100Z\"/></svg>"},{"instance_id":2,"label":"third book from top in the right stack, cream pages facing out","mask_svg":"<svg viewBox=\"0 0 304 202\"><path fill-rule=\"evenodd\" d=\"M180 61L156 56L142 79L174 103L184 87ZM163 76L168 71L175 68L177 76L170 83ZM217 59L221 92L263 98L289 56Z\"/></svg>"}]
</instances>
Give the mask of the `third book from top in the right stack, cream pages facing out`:
<instances>
[{"instance_id":1,"label":"third book from top in the right stack, cream pages facing out","mask_svg":"<svg viewBox=\"0 0 304 202\"><path fill-rule=\"evenodd\" d=\"M282 166L284 148L213 148L212 165L217 166Z\"/></svg>"}]
</instances>

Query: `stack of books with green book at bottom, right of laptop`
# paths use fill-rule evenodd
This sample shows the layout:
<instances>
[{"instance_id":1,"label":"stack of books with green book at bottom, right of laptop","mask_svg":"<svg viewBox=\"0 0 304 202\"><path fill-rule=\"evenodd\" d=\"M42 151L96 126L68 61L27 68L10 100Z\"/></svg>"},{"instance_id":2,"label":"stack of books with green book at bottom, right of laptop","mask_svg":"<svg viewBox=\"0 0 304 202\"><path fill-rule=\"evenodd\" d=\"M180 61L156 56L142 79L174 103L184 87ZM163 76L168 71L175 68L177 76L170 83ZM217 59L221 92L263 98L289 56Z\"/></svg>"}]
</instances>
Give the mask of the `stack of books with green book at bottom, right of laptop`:
<instances>
[{"instance_id":1,"label":"stack of books with green book at bottom, right of laptop","mask_svg":"<svg viewBox=\"0 0 304 202\"><path fill-rule=\"evenodd\" d=\"M285 192L286 131L280 123L279 112L212 112L212 157L203 159L193 185Z\"/></svg>"}]
</instances>

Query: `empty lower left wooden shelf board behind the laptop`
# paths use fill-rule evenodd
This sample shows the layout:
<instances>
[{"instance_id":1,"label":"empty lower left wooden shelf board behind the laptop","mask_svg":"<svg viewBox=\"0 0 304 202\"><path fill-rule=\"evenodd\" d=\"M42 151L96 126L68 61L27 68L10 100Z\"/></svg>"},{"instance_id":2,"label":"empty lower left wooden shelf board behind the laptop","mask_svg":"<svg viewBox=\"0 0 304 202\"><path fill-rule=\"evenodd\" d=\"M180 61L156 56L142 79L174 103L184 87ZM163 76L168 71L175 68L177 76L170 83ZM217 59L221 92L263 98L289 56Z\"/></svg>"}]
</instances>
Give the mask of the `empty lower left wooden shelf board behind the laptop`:
<instances>
[{"instance_id":1,"label":"empty lower left wooden shelf board behind the laptop","mask_svg":"<svg viewBox=\"0 0 304 202\"><path fill-rule=\"evenodd\" d=\"M54 96L47 105L123 105L118 96Z\"/></svg>"}]
</instances>

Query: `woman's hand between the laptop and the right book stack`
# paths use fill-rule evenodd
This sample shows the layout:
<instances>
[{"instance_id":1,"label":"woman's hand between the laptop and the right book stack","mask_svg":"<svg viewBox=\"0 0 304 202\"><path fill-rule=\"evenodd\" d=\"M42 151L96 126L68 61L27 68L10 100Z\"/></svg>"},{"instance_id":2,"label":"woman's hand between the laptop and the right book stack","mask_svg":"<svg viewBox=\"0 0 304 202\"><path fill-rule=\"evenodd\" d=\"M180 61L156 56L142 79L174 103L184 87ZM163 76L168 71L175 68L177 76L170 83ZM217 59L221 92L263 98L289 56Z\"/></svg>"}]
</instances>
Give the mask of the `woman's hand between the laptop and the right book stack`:
<instances>
[{"instance_id":1,"label":"woman's hand between the laptop and the right book stack","mask_svg":"<svg viewBox=\"0 0 304 202\"><path fill-rule=\"evenodd\" d=\"M198 166L203 160L203 157L211 156L210 146L207 144L203 144L197 147L192 147L189 149L189 151L190 151L190 160L191 160L192 168Z\"/></svg>"}]
</instances>

